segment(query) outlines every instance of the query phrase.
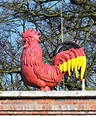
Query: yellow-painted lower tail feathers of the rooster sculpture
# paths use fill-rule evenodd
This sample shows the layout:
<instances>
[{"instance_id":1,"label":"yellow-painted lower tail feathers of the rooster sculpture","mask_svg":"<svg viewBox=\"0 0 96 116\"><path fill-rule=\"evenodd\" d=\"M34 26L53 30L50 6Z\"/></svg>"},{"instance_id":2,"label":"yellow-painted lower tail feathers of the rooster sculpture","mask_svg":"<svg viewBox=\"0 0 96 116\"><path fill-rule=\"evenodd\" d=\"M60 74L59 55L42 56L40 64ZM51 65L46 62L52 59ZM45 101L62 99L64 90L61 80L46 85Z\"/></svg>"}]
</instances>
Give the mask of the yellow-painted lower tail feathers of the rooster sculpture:
<instances>
[{"instance_id":1,"label":"yellow-painted lower tail feathers of the rooster sculpture","mask_svg":"<svg viewBox=\"0 0 96 116\"><path fill-rule=\"evenodd\" d=\"M69 76L71 75L71 71L74 71L76 78L78 78L78 70L81 68L80 78L82 80L86 69L86 56L78 56L70 59L67 62L60 64L58 68L62 72L68 71Z\"/></svg>"}]
</instances>

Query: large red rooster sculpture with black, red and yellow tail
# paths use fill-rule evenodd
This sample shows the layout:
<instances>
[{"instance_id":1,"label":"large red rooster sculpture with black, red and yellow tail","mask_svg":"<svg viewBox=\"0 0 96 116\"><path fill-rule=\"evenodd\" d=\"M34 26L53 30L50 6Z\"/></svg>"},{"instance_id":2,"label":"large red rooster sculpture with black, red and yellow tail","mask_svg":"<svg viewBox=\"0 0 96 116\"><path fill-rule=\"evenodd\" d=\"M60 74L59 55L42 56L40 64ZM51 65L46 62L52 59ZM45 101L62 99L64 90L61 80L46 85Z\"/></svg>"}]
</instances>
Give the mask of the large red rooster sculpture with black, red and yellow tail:
<instances>
[{"instance_id":1,"label":"large red rooster sculpture with black, red and yellow tail","mask_svg":"<svg viewBox=\"0 0 96 116\"><path fill-rule=\"evenodd\" d=\"M78 78L78 70L81 70L80 78L83 78L86 68L86 56L79 45L71 42L77 47L71 47L64 51L57 50L51 66L44 64L42 61L42 49L38 43L40 42L39 38L40 35L34 29L25 30L22 34L24 51L21 56L21 75L27 85L44 91L52 90L61 82L65 73L71 75L71 71L74 71Z\"/></svg>"}]
</instances>

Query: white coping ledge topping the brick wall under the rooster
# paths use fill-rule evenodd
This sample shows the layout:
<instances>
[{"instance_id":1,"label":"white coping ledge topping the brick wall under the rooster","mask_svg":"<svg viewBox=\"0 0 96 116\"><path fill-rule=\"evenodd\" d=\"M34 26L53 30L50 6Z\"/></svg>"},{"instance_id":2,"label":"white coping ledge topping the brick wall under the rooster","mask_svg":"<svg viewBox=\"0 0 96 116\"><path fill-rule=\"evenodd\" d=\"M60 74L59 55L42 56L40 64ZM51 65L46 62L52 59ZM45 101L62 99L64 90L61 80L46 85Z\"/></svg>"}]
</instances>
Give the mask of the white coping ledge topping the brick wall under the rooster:
<instances>
[{"instance_id":1,"label":"white coping ledge topping the brick wall under the rooster","mask_svg":"<svg viewBox=\"0 0 96 116\"><path fill-rule=\"evenodd\" d=\"M96 98L96 91L0 91L0 98Z\"/></svg>"}]
</instances>

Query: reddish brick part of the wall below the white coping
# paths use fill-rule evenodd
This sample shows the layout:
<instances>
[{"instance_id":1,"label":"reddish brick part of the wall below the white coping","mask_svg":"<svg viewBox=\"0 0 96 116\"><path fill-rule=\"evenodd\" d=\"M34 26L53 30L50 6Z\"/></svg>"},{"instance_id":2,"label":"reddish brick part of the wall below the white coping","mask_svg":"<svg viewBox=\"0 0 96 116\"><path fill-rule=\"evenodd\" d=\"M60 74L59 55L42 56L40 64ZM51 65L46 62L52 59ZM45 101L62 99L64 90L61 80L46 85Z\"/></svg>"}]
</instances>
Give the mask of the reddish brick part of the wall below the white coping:
<instances>
[{"instance_id":1,"label":"reddish brick part of the wall below the white coping","mask_svg":"<svg viewBox=\"0 0 96 116\"><path fill-rule=\"evenodd\" d=\"M18 98L0 99L0 116L21 115L96 115L96 99Z\"/></svg>"}]
</instances>

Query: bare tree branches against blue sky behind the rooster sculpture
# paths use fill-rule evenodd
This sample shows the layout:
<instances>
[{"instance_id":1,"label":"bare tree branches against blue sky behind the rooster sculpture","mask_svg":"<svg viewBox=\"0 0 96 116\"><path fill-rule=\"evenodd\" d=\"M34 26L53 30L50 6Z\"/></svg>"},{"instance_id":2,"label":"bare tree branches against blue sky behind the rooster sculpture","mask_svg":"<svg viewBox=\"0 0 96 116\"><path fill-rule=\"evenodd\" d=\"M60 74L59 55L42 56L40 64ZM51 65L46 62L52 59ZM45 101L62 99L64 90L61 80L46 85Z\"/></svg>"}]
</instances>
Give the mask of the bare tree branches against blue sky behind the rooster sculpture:
<instances>
[{"instance_id":1,"label":"bare tree branches against blue sky behind the rooster sculpture","mask_svg":"<svg viewBox=\"0 0 96 116\"><path fill-rule=\"evenodd\" d=\"M62 11L62 14L61 14ZM61 17L62 16L62 17ZM35 90L24 85L20 74L22 32L35 28L41 34L43 60L51 64L56 46L76 41L87 55L86 89L96 90L96 1L95 0L1 0L0 90ZM59 90L79 90L74 75L63 78Z\"/></svg>"}]
</instances>

